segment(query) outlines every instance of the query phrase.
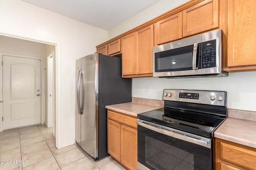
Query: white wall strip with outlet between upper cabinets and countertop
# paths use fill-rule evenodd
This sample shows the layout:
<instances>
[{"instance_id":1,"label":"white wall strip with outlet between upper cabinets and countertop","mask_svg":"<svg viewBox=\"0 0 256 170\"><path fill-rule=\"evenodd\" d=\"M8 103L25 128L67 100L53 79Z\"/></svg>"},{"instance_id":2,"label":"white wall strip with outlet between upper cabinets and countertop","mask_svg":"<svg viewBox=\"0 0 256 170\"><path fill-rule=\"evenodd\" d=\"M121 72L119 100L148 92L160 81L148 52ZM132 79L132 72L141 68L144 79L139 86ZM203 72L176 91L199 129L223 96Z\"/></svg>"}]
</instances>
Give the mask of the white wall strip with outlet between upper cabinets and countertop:
<instances>
[{"instance_id":1,"label":"white wall strip with outlet between upper cabinets and countertop","mask_svg":"<svg viewBox=\"0 0 256 170\"><path fill-rule=\"evenodd\" d=\"M150 86L150 93L146 86ZM228 77L132 79L132 97L162 100L164 89L226 91L228 108L256 111L255 71L229 73Z\"/></svg>"}]
</instances>

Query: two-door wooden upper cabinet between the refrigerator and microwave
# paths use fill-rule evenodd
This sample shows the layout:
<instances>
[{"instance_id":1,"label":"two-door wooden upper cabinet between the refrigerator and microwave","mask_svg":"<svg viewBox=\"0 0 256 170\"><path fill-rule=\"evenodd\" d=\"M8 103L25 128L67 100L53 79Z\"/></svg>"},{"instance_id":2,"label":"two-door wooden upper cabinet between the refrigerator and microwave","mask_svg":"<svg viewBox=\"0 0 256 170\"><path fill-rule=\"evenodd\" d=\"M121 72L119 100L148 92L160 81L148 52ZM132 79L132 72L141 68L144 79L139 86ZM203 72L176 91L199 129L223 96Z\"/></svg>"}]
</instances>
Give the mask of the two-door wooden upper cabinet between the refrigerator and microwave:
<instances>
[{"instance_id":1,"label":"two-door wooden upper cabinet between the refrigerator and microwave","mask_svg":"<svg viewBox=\"0 0 256 170\"><path fill-rule=\"evenodd\" d=\"M121 39L122 77L153 75L153 24Z\"/></svg>"}]
</instances>

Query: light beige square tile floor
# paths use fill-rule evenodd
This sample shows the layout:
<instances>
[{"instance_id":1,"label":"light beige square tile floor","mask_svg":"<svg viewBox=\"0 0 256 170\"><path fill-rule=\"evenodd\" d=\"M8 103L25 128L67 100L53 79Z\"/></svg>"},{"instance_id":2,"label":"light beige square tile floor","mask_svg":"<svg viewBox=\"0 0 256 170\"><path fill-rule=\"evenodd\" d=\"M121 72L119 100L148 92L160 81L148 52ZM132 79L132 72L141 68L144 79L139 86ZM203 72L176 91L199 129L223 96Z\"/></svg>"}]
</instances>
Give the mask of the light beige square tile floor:
<instances>
[{"instance_id":1,"label":"light beige square tile floor","mask_svg":"<svg viewBox=\"0 0 256 170\"><path fill-rule=\"evenodd\" d=\"M44 124L0 132L0 170L125 170L111 156L94 161L75 144L55 143Z\"/></svg>"}]
</instances>

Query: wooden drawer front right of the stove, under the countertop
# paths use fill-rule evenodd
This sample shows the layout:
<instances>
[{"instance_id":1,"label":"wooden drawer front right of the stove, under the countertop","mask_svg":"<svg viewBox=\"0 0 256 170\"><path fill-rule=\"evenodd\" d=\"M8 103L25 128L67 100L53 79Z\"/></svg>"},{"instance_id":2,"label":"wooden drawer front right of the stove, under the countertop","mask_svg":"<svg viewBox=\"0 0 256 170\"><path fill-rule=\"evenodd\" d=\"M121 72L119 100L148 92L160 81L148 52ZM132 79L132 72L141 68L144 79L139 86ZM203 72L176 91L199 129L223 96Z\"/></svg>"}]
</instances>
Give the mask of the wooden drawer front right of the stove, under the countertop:
<instances>
[{"instance_id":1,"label":"wooden drawer front right of the stove, under the countertop","mask_svg":"<svg viewBox=\"0 0 256 170\"><path fill-rule=\"evenodd\" d=\"M256 152L220 142L220 158L233 164L256 169Z\"/></svg>"}]
</instances>

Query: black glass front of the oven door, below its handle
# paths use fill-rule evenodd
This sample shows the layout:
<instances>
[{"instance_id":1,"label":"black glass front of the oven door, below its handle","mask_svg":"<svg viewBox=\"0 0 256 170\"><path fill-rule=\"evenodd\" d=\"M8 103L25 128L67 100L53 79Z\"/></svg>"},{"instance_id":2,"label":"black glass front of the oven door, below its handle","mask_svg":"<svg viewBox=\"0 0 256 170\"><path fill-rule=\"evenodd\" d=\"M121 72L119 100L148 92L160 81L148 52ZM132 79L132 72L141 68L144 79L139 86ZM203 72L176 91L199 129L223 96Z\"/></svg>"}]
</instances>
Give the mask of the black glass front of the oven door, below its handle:
<instances>
[{"instance_id":1,"label":"black glass front of the oven door, below its handle","mask_svg":"<svg viewBox=\"0 0 256 170\"><path fill-rule=\"evenodd\" d=\"M211 170L211 149L138 125L138 162L150 170Z\"/></svg>"}]
</instances>

